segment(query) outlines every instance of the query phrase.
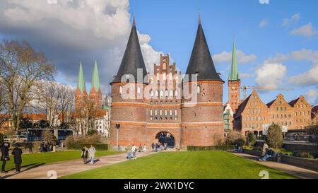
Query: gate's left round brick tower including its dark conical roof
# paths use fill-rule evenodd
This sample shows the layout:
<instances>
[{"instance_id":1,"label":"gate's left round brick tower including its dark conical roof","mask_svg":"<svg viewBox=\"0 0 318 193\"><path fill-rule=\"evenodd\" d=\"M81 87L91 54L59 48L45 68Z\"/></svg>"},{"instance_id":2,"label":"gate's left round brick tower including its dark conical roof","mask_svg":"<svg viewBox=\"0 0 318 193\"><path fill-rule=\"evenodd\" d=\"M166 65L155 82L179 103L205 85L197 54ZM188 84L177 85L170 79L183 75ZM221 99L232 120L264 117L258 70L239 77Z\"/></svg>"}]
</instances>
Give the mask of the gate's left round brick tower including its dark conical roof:
<instances>
[{"instance_id":1,"label":"gate's left round brick tower including its dark conical roof","mask_svg":"<svg viewBox=\"0 0 318 193\"><path fill-rule=\"evenodd\" d=\"M146 143L148 104L143 97L143 90L147 85L144 79L146 74L134 20L122 63L110 83L112 89L110 146L113 148L117 145Z\"/></svg>"}]
</instances>

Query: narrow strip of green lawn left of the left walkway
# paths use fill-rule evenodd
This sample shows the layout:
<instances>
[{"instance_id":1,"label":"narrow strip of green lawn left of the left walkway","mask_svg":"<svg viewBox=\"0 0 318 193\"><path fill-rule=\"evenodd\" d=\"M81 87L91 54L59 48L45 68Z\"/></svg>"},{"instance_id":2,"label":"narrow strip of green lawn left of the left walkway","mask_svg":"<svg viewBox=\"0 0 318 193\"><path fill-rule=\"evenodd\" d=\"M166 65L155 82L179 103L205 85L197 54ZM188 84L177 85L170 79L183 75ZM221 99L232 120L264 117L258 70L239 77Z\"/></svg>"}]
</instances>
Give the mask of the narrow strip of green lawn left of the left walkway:
<instances>
[{"instance_id":1,"label":"narrow strip of green lawn left of the left walkway","mask_svg":"<svg viewBox=\"0 0 318 193\"><path fill-rule=\"evenodd\" d=\"M11 152L10 152L11 153ZM117 151L97 151L95 156L110 156L116 153L122 153ZM81 151L57 151L47 153L31 153L22 154L21 167L34 167L37 165L43 165L48 163L54 163L63 160L75 160L81 158ZM15 168L13 158L10 156L10 160L6 163L6 170L13 170Z\"/></svg>"}]
</instances>

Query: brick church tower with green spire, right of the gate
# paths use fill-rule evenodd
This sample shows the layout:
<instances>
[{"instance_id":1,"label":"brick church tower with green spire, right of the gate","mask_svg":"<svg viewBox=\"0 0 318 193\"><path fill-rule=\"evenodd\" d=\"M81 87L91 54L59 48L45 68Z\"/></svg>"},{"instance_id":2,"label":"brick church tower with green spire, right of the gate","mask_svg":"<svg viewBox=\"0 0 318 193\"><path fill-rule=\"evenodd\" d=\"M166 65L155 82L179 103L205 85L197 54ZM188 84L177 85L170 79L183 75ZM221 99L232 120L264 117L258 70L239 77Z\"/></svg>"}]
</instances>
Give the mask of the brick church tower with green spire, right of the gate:
<instances>
[{"instance_id":1,"label":"brick church tower with green spire, right of the gate","mask_svg":"<svg viewBox=\"0 0 318 193\"><path fill-rule=\"evenodd\" d=\"M240 75L237 71L237 59L236 59L236 49L235 41L233 42L233 51L232 51L232 66L231 71L228 76L228 103L232 108L232 111L236 113L238 106L240 105L240 88L241 81Z\"/></svg>"}]
</instances>

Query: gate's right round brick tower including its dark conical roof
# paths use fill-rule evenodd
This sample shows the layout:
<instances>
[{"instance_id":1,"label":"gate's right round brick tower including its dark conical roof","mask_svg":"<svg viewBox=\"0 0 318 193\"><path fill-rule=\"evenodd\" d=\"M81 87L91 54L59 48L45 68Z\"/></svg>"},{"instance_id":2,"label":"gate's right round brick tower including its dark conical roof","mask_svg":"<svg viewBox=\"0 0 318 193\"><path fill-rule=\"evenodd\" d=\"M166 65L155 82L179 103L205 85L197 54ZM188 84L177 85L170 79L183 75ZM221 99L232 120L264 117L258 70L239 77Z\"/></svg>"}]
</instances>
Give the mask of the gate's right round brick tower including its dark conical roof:
<instances>
[{"instance_id":1,"label":"gate's right round brick tower including its dark conical roof","mask_svg":"<svg viewBox=\"0 0 318 193\"><path fill-rule=\"evenodd\" d=\"M189 80L183 80L183 91L190 91L182 93L181 145L214 145L223 138L224 81L216 72L200 17L186 75Z\"/></svg>"}]
</instances>

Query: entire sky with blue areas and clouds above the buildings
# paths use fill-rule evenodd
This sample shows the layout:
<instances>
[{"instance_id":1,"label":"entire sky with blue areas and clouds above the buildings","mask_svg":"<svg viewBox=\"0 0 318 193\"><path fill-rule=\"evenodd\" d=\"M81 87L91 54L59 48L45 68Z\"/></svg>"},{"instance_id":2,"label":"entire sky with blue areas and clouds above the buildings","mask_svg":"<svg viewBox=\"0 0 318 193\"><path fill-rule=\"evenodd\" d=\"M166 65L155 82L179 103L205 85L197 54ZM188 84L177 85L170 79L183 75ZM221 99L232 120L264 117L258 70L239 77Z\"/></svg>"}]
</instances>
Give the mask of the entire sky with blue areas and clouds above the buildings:
<instances>
[{"instance_id":1,"label":"entire sky with blue areas and clouds above the buildings","mask_svg":"<svg viewBox=\"0 0 318 193\"><path fill-rule=\"evenodd\" d=\"M160 53L170 53L184 73L201 11L223 80L235 37L242 85L294 88L260 92L265 103L283 93L288 101L305 95L318 104L317 7L316 0L1 0L0 39L27 40L57 66L56 80L71 86L82 61L88 90L96 59L107 93L126 47L131 13L148 71ZM225 83L224 102L227 90Z\"/></svg>"}]
</instances>

